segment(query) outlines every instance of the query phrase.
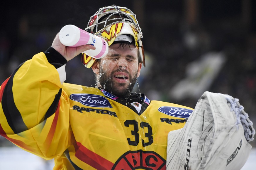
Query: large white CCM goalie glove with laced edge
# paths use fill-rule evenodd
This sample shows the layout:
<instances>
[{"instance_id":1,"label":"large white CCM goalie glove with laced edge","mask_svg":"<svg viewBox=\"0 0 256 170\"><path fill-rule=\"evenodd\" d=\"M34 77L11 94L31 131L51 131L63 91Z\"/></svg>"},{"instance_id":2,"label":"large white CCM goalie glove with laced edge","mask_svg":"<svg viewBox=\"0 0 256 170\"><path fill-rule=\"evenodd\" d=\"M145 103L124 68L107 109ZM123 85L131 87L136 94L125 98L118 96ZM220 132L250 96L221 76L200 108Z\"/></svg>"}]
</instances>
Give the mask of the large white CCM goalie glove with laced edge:
<instances>
[{"instance_id":1,"label":"large white CCM goalie glove with laced edge","mask_svg":"<svg viewBox=\"0 0 256 170\"><path fill-rule=\"evenodd\" d=\"M254 134L238 99L206 91L184 128L169 132L166 168L241 169Z\"/></svg>"}]
</instances>

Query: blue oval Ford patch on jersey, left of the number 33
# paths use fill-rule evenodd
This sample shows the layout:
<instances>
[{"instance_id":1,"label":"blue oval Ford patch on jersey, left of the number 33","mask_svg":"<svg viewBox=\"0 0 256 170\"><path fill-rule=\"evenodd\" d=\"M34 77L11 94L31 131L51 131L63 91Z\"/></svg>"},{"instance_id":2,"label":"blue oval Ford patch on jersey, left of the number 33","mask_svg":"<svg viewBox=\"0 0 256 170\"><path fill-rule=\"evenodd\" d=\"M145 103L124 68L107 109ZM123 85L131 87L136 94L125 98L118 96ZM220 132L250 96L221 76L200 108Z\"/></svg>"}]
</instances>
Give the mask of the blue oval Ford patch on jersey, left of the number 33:
<instances>
[{"instance_id":1,"label":"blue oval Ford patch on jersey, left of the number 33","mask_svg":"<svg viewBox=\"0 0 256 170\"><path fill-rule=\"evenodd\" d=\"M86 106L112 107L106 98L95 94L72 94L69 98Z\"/></svg>"}]
</instances>

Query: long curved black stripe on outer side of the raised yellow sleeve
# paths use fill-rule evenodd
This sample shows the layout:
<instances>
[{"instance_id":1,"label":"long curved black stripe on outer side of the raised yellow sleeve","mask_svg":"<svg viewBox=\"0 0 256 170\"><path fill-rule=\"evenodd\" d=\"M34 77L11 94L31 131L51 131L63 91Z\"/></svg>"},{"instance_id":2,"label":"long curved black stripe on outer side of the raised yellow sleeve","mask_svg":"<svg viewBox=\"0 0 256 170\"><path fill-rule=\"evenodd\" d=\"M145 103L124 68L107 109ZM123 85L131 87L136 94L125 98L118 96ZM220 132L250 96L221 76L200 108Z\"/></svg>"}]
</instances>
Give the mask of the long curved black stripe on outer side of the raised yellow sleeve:
<instances>
[{"instance_id":1,"label":"long curved black stripe on outer side of the raised yellow sleeve","mask_svg":"<svg viewBox=\"0 0 256 170\"><path fill-rule=\"evenodd\" d=\"M21 65L23 65L23 63ZM3 98L2 98L2 108L4 111L4 115L7 119L9 126L11 127L11 129L15 134L28 130L28 127L26 126L26 124L22 119L21 113L19 112L19 110L17 109L14 103L13 91L12 91L13 77L17 72L17 70L21 67L21 65L19 65L11 75L9 81L5 86L5 89L3 92Z\"/></svg>"}]
</instances>

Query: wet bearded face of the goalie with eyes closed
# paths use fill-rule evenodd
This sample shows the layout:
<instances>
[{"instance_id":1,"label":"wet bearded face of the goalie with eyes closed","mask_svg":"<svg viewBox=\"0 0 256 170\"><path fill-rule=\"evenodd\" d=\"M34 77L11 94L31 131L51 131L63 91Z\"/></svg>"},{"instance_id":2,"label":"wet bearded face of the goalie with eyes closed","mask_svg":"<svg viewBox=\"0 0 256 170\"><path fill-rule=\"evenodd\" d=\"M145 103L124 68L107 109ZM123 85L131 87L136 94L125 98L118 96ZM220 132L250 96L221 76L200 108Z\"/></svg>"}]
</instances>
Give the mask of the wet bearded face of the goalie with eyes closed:
<instances>
[{"instance_id":1,"label":"wet bearded face of the goalie with eyes closed","mask_svg":"<svg viewBox=\"0 0 256 170\"><path fill-rule=\"evenodd\" d=\"M139 77L138 49L132 44L113 44L108 54L97 63L94 73L97 85L116 96L128 95Z\"/></svg>"}]
</instances>

